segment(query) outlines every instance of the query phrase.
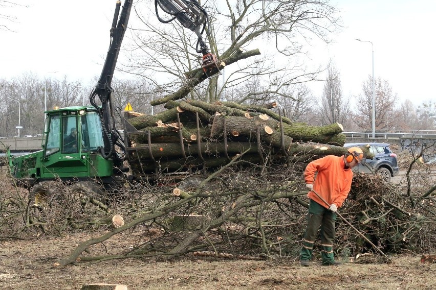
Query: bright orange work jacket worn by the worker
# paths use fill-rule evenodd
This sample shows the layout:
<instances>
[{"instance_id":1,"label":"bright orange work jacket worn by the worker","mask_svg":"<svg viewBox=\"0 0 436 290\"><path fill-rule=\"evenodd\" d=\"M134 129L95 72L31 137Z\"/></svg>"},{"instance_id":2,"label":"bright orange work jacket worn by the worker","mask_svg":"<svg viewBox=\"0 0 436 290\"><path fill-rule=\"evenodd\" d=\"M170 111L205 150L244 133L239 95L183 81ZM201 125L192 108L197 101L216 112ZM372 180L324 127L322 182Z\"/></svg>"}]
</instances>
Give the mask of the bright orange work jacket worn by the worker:
<instances>
[{"instance_id":1,"label":"bright orange work jacket worn by the worker","mask_svg":"<svg viewBox=\"0 0 436 290\"><path fill-rule=\"evenodd\" d=\"M304 181L313 183L313 189L329 204L338 208L348 196L351 189L353 172L351 168L344 169L344 157L328 155L310 162L304 171ZM315 173L316 179L315 179ZM308 197L325 208L329 208L314 192L309 191Z\"/></svg>"}]
</instances>

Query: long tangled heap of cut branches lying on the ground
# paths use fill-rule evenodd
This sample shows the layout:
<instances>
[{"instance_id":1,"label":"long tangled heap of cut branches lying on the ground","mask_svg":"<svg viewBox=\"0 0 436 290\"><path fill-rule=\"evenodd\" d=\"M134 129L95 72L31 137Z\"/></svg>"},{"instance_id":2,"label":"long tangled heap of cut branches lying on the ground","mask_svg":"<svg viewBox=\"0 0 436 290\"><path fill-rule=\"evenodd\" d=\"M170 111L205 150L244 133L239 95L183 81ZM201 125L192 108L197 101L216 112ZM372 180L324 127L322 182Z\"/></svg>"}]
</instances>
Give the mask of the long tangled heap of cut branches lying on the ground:
<instances>
[{"instance_id":1,"label":"long tangled heap of cut branches lying on the ground","mask_svg":"<svg viewBox=\"0 0 436 290\"><path fill-rule=\"evenodd\" d=\"M0 186L0 238L102 233L84 240L59 265L180 255L297 257L308 207L304 164L255 164L235 158L213 173L192 174L176 185L164 179L159 184L130 184L123 188L124 199L110 206L94 202L74 186L54 182L58 195L42 210L31 208L28 192L9 185L11 179L5 175ZM339 209L384 253L435 250L434 182L424 183L418 173L408 178L411 186L386 183L377 175L355 174L348 199ZM415 182L413 178L421 179ZM125 224L113 224L114 215L122 216ZM130 240L119 252L93 247L106 245L123 232L136 236L136 242ZM377 253L340 219L335 251L341 257Z\"/></svg>"}]
</instances>

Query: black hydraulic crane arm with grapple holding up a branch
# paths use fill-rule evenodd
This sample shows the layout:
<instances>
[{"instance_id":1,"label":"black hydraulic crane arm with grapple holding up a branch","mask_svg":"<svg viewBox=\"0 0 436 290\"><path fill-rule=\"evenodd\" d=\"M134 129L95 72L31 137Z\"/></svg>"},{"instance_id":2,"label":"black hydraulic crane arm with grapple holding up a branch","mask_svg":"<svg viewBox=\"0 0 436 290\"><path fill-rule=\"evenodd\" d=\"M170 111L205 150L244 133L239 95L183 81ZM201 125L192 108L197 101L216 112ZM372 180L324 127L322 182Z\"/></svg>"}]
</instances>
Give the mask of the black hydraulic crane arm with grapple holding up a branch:
<instances>
[{"instance_id":1,"label":"black hydraulic crane arm with grapple holding up a branch","mask_svg":"<svg viewBox=\"0 0 436 290\"><path fill-rule=\"evenodd\" d=\"M127 29L132 4L133 0L125 0L121 9L121 1L117 0L116 2L109 50L107 51L97 86L90 95L90 102L97 109L102 124L104 148L100 148L100 153L103 158L108 159L114 157L114 161L118 159L118 162L122 160L116 158L118 155L115 152L115 144L122 150L125 150L125 148L123 148L123 144L118 141L122 138L115 127L115 106L112 99L113 89L111 83L118 55L121 50L121 43ZM177 19L183 27L193 31L197 35L198 42L195 50L197 53L203 54L202 67L206 74L210 71L212 65L216 66L216 58L209 52L209 47L207 47L202 36L208 25L207 12L197 0L155 0L155 7L156 16L159 21L168 23ZM161 18L158 7L163 12L171 15L170 19L164 20ZM101 107L97 102L97 97L100 100Z\"/></svg>"}]
</instances>

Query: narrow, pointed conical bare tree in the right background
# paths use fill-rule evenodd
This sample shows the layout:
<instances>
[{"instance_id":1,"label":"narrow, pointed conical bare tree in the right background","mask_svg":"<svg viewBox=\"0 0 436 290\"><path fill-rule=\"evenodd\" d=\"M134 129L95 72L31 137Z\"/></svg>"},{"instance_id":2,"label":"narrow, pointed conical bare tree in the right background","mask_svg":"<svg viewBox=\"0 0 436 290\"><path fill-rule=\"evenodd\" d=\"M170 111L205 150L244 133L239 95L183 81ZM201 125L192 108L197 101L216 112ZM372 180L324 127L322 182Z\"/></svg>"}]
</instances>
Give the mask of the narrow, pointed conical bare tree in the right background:
<instances>
[{"instance_id":1,"label":"narrow, pointed conical bare tree in the right background","mask_svg":"<svg viewBox=\"0 0 436 290\"><path fill-rule=\"evenodd\" d=\"M351 117L350 99L342 95L341 80L335 66L329 66L321 96L321 124L339 123L347 127Z\"/></svg>"}]
</instances>

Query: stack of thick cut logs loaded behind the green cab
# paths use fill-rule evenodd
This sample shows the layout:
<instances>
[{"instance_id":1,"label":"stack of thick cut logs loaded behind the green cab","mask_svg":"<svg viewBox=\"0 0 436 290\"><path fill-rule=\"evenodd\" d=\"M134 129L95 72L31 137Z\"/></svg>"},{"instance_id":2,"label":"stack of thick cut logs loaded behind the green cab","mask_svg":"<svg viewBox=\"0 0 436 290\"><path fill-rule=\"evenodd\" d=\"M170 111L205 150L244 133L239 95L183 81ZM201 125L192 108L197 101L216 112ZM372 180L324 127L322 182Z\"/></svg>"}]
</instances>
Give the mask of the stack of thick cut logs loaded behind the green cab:
<instances>
[{"instance_id":1,"label":"stack of thick cut logs loaded behind the green cab","mask_svg":"<svg viewBox=\"0 0 436 290\"><path fill-rule=\"evenodd\" d=\"M280 116L275 106L170 100L165 104L167 110L156 115L127 113L131 116L125 122L129 165L140 176L209 170L235 157L265 164L346 153L342 125L293 123Z\"/></svg>"}]
</instances>

